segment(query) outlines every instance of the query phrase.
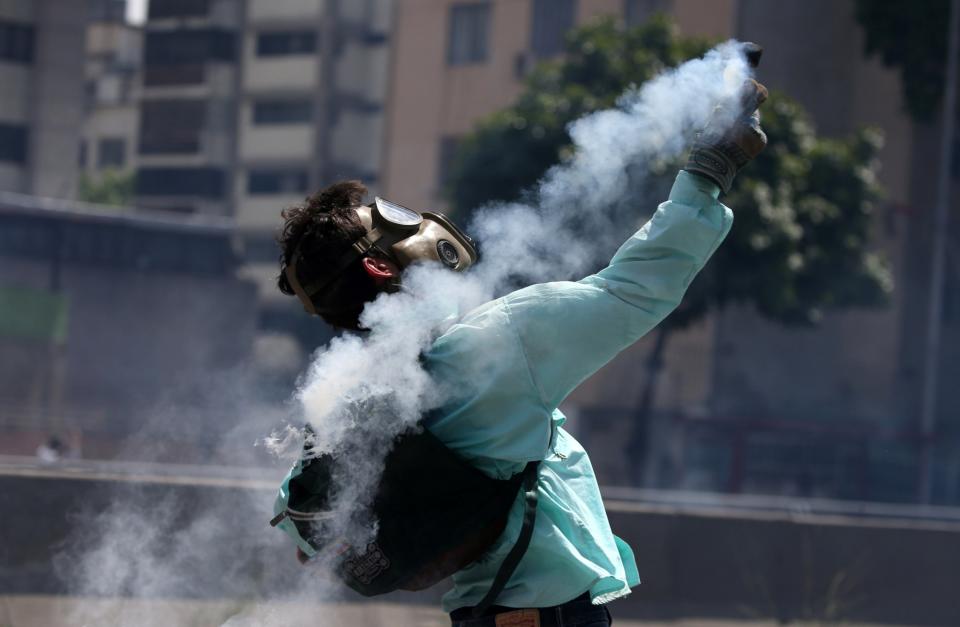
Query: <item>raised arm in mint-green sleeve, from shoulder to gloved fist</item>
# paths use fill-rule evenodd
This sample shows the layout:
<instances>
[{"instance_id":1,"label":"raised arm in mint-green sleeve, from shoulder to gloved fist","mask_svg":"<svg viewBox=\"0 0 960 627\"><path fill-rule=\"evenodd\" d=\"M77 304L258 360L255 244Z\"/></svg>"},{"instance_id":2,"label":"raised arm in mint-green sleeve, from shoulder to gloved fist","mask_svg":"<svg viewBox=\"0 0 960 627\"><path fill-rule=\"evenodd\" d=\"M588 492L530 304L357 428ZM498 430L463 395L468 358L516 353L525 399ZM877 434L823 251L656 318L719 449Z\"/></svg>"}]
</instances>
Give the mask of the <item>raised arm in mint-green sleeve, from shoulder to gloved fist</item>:
<instances>
[{"instance_id":1,"label":"raised arm in mint-green sleeve, from shoulder to gloved fist","mask_svg":"<svg viewBox=\"0 0 960 627\"><path fill-rule=\"evenodd\" d=\"M440 337L425 363L448 402L431 430L467 455L539 459L553 410L680 304L729 232L733 213L717 198L766 143L755 113L765 98L750 81L733 126L708 125L669 199L609 266L508 294Z\"/></svg>"}]
</instances>

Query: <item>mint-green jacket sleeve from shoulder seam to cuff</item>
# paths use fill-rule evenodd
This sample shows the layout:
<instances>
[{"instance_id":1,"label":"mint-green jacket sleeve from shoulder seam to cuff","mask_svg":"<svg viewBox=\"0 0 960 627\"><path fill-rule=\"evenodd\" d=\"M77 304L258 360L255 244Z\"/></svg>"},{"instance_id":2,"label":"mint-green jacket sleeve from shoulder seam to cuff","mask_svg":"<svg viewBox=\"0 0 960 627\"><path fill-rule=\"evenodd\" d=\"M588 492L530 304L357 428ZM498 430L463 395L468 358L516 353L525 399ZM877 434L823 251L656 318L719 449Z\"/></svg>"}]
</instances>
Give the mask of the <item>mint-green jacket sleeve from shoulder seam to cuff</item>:
<instances>
[{"instance_id":1,"label":"mint-green jacket sleeve from shoulder seam to cuff","mask_svg":"<svg viewBox=\"0 0 960 627\"><path fill-rule=\"evenodd\" d=\"M545 408L556 408L677 307L733 222L718 196L715 184L681 171L669 200L606 268L502 299Z\"/></svg>"}]
</instances>

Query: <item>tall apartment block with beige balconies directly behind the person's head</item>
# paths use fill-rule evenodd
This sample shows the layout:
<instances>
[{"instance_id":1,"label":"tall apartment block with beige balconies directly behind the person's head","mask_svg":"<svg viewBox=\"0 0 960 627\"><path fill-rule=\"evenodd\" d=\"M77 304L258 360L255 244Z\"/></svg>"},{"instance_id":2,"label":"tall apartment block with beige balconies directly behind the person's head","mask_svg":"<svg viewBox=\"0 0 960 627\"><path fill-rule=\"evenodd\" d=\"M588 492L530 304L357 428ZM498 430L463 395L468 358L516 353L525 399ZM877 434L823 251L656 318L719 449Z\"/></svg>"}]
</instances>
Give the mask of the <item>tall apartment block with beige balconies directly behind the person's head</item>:
<instances>
[{"instance_id":1,"label":"tall apartment block with beige balconies directly behind the person's head","mask_svg":"<svg viewBox=\"0 0 960 627\"><path fill-rule=\"evenodd\" d=\"M152 0L138 204L232 216L250 257L272 261L281 208L330 178L379 176L390 11Z\"/></svg>"}]
</instances>

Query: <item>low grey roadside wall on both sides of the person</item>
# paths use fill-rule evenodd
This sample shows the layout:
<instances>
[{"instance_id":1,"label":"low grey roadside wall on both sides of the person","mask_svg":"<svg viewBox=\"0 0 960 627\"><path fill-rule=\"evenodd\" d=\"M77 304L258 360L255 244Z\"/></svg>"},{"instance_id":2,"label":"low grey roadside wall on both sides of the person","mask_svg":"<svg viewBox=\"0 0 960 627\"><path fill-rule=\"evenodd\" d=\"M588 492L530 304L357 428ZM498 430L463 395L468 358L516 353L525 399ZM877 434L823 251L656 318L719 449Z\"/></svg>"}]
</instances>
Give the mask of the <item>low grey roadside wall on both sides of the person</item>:
<instances>
[{"instance_id":1,"label":"low grey roadside wall on both sides of the person","mask_svg":"<svg viewBox=\"0 0 960 627\"><path fill-rule=\"evenodd\" d=\"M69 591L54 565L60 565L60 574L64 566L69 570L71 562L63 556L76 555L71 551L82 551L97 537L90 535L98 528L90 521L96 512L108 511L111 503L127 512L164 503L157 535L151 536L154 544L148 540L137 549L154 555L158 565L167 551L153 551L167 542L178 544L188 535L195 538L198 530L213 526L217 537L229 538L217 560L196 556L188 559L190 568L181 577L148 585L146 590L156 596L275 595L298 579L315 576L295 563L282 534L265 524L273 500L271 480L278 480L282 471L269 471L276 477L261 476L266 480L259 482L265 484L262 489L242 489L227 487L216 477L158 479L159 469L142 470L155 478L146 483L111 481L111 471L104 469L99 479L91 480L83 471L3 468L0 516L6 523L0 594ZM956 523L707 514L617 501L608 502L608 515L614 531L633 547L643 579L630 597L611 605L618 618L960 624ZM170 553L180 554L182 548L171 545ZM52 560L54 554L61 557ZM226 572L229 576L223 576ZM436 605L444 590L441 584L423 593L396 593L376 601ZM360 599L348 595L347 600Z\"/></svg>"}]
</instances>

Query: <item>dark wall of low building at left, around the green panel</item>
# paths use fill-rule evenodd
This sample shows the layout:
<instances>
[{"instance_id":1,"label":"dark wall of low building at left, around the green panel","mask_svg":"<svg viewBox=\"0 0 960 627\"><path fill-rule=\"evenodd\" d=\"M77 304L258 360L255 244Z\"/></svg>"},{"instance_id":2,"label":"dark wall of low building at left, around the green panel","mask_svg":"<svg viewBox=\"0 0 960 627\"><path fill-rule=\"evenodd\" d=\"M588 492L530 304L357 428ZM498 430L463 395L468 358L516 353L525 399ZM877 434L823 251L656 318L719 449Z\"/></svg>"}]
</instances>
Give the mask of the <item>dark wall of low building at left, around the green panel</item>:
<instances>
[{"instance_id":1,"label":"dark wall of low building at left, around the green panel","mask_svg":"<svg viewBox=\"0 0 960 627\"><path fill-rule=\"evenodd\" d=\"M50 414L51 424L43 425L47 435L81 432L88 439L122 439L158 408L200 398L211 377L249 357L256 324L251 285L228 277L143 273L134 263L112 270L61 269L60 293L69 307L66 344L54 351L0 341L3 405L19 407L18 413ZM2 257L0 284L42 289L50 272L45 263ZM58 369L55 380L51 367ZM31 392L35 389L39 397ZM30 431L36 424L23 420L15 430ZM32 452L11 446L7 439L4 452ZM112 452L89 449L86 454Z\"/></svg>"}]
</instances>

